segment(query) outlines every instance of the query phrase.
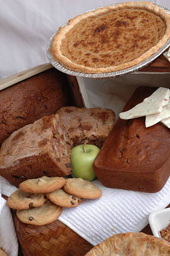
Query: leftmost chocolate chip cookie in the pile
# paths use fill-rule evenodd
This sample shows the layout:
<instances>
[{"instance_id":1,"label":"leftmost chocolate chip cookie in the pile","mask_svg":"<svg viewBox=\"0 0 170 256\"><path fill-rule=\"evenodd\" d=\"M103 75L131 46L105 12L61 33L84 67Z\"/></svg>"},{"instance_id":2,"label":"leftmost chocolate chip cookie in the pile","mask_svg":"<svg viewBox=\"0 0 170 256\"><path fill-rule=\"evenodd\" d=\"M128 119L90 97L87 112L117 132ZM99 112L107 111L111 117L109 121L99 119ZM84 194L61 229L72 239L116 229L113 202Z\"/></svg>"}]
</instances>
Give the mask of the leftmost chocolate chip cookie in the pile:
<instances>
[{"instance_id":1,"label":"leftmost chocolate chip cookie in the pile","mask_svg":"<svg viewBox=\"0 0 170 256\"><path fill-rule=\"evenodd\" d=\"M40 207L47 200L43 194L27 193L18 189L8 197L6 204L10 208L23 210L29 209L30 207Z\"/></svg>"}]
</instances>

